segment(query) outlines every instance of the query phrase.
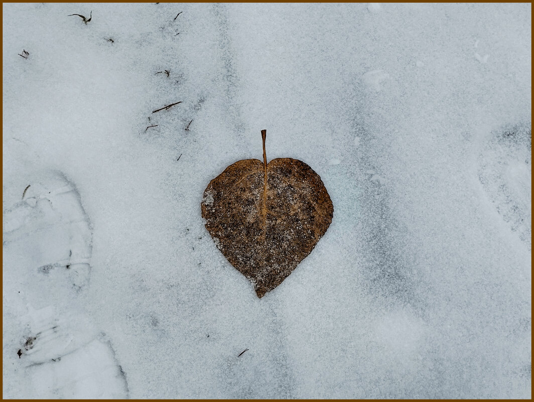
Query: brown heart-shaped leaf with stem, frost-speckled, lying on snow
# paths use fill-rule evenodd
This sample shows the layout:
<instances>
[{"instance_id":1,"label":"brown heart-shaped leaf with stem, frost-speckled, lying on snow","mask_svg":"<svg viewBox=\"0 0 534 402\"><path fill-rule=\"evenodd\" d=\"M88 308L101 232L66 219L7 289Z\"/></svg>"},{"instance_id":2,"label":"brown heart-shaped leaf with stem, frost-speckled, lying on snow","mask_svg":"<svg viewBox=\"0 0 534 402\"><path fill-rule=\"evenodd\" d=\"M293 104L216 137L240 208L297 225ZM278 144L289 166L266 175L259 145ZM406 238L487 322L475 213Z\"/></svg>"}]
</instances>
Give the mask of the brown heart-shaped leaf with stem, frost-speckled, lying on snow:
<instances>
[{"instance_id":1,"label":"brown heart-shaped leaf with stem, frost-speckled, lying on snow","mask_svg":"<svg viewBox=\"0 0 534 402\"><path fill-rule=\"evenodd\" d=\"M258 297L276 288L311 253L334 207L319 175L302 161L244 159L211 180L201 203L206 228ZM265 180L266 178L266 180Z\"/></svg>"}]
</instances>

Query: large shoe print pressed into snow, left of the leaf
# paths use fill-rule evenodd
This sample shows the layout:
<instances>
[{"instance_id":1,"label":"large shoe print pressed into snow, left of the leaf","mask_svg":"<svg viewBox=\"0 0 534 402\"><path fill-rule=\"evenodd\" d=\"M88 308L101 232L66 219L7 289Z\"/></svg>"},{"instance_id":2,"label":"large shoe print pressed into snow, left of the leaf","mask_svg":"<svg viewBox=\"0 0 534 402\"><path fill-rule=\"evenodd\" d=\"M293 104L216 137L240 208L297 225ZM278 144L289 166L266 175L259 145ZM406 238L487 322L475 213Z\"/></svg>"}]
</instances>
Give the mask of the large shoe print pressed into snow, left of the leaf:
<instances>
[{"instance_id":1,"label":"large shoe print pressed into snow, left of the leaf","mask_svg":"<svg viewBox=\"0 0 534 402\"><path fill-rule=\"evenodd\" d=\"M22 393L9 397L126 398L111 343L78 302L92 253L80 194L59 171L31 177L22 200L3 215L4 308L17 312L12 324L19 333L11 339L13 365L6 367L13 367ZM6 342L4 361L11 350ZM4 396L9 393L4 387Z\"/></svg>"}]
</instances>

